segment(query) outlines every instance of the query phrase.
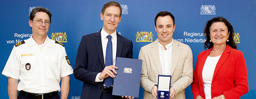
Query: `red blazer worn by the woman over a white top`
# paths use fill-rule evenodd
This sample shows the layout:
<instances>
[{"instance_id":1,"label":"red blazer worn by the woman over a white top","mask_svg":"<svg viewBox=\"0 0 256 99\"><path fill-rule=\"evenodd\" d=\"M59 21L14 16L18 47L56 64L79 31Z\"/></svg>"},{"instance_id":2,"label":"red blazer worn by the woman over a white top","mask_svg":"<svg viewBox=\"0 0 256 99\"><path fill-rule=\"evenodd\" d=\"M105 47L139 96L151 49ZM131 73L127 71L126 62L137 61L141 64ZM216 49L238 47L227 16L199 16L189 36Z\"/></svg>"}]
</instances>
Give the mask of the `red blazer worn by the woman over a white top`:
<instances>
[{"instance_id":1,"label":"red blazer worn by the woman over a white top","mask_svg":"<svg viewBox=\"0 0 256 99\"><path fill-rule=\"evenodd\" d=\"M205 99L202 71L212 48L199 53L191 84L193 99L201 95ZM247 67L241 51L227 45L213 73L211 98L224 94L226 99L239 99L248 92Z\"/></svg>"}]
</instances>

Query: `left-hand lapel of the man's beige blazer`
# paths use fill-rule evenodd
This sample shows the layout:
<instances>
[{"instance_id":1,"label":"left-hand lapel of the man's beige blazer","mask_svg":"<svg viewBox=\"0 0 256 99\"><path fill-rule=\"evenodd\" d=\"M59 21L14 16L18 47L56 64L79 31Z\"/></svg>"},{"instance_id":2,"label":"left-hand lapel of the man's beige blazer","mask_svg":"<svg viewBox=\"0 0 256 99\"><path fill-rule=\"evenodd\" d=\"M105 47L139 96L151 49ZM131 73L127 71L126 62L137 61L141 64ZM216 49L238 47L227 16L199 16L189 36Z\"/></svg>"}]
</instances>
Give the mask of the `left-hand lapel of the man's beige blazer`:
<instances>
[{"instance_id":1,"label":"left-hand lapel of the man's beige blazer","mask_svg":"<svg viewBox=\"0 0 256 99\"><path fill-rule=\"evenodd\" d=\"M152 55L152 59L154 61L154 66L156 66L156 69L158 71L158 74L162 74L161 66L160 66L160 59L159 59L159 50L158 50L158 39L156 39L150 48L150 52Z\"/></svg>"}]
</instances>

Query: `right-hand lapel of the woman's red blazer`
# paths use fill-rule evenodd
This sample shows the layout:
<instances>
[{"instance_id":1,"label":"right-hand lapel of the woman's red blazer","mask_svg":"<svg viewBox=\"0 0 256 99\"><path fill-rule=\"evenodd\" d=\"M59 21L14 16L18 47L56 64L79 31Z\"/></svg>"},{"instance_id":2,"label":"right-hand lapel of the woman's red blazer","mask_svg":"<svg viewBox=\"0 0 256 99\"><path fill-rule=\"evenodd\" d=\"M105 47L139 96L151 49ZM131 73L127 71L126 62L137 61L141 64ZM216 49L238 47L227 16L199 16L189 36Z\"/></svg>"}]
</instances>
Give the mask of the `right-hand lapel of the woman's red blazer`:
<instances>
[{"instance_id":1,"label":"right-hand lapel of the woman's red blazer","mask_svg":"<svg viewBox=\"0 0 256 99\"><path fill-rule=\"evenodd\" d=\"M217 74L218 70L220 69L220 67L222 66L222 64L228 59L228 56L230 55L230 51L231 51L231 47L227 45L225 50L221 54L221 57L218 60L218 63L215 67L215 70L214 70L214 73L213 73L213 79L216 76L216 74Z\"/></svg>"}]
</instances>

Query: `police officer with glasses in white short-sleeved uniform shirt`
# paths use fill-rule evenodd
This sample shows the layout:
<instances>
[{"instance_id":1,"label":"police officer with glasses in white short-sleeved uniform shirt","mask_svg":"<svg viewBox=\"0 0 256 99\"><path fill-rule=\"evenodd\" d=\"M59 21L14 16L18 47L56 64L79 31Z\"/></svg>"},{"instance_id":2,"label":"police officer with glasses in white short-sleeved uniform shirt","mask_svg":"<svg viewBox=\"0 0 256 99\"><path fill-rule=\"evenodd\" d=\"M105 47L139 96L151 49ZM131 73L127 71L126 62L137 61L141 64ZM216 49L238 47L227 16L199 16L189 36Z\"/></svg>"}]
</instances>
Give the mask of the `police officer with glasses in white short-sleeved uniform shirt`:
<instances>
[{"instance_id":1,"label":"police officer with glasses in white short-sleeved uniform shirt","mask_svg":"<svg viewBox=\"0 0 256 99\"><path fill-rule=\"evenodd\" d=\"M58 91L61 99L68 98L73 69L64 45L47 36L51 16L46 8L33 9L31 38L13 47L2 71L8 77L9 99L59 99Z\"/></svg>"}]
</instances>

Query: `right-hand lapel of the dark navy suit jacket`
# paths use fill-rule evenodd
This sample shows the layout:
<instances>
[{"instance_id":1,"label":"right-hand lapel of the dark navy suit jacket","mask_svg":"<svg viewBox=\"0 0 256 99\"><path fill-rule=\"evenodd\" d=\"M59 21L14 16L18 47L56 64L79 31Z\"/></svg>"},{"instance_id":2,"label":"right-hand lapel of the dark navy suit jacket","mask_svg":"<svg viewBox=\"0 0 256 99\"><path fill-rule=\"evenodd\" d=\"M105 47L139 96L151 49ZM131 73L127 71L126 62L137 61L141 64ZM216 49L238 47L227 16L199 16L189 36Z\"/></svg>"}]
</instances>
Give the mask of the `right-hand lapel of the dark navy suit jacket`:
<instances>
[{"instance_id":1,"label":"right-hand lapel of the dark navy suit jacket","mask_svg":"<svg viewBox=\"0 0 256 99\"><path fill-rule=\"evenodd\" d=\"M122 54L122 50L123 50L123 39L121 37L121 35L119 35L118 33L116 33L116 38L117 38L117 42L116 42L116 57L121 57Z\"/></svg>"}]
</instances>

